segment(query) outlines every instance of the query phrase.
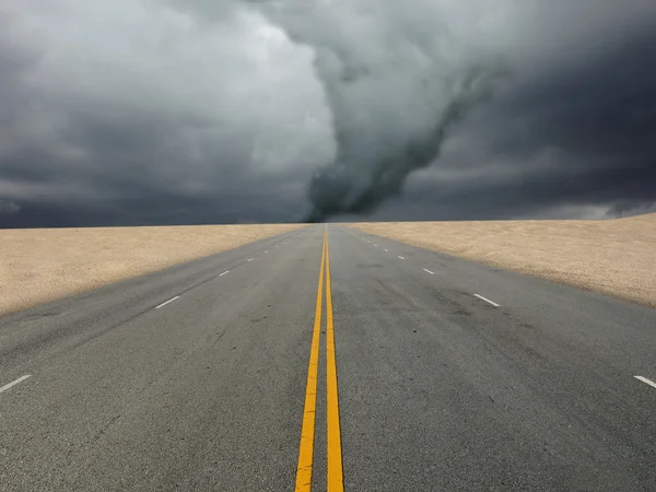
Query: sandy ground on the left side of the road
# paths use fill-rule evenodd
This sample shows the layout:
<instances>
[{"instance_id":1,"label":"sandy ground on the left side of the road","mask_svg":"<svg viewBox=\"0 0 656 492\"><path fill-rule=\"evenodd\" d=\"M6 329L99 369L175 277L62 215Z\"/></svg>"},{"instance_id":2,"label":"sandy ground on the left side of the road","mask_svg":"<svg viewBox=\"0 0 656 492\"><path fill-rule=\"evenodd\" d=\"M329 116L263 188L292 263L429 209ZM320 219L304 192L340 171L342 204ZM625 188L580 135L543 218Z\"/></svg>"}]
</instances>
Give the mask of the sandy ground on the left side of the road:
<instances>
[{"instance_id":1,"label":"sandy ground on the left side of the road","mask_svg":"<svg viewBox=\"0 0 656 492\"><path fill-rule=\"evenodd\" d=\"M232 249L301 226L0 231L0 314Z\"/></svg>"}]
</instances>

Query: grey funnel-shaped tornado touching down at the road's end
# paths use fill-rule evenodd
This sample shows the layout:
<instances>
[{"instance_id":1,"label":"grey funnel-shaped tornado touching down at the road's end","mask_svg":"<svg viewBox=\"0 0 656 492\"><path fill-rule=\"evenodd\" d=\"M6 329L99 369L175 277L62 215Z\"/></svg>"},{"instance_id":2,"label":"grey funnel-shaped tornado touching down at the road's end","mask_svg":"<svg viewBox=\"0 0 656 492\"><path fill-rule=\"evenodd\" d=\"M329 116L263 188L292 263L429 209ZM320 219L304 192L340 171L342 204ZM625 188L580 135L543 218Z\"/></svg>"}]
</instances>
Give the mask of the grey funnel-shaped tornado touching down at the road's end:
<instances>
[{"instance_id":1,"label":"grey funnel-shaped tornado touching down at the road's end","mask_svg":"<svg viewBox=\"0 0 656 492\"><path fill-rule=\"evenodd\" d=\"M335 161L307 184L309 211L301 222L367 214L401 194L408 177L438 160L453 128L508 73L497 57L456 35L448 19L431 16L430 3L424 12L396 2L372 9L356 0L331 8L276 5L265 10L269 20L314 51L337 149ZM358 27L344 27L351 23Z\"/></svg>"}]
</instances>

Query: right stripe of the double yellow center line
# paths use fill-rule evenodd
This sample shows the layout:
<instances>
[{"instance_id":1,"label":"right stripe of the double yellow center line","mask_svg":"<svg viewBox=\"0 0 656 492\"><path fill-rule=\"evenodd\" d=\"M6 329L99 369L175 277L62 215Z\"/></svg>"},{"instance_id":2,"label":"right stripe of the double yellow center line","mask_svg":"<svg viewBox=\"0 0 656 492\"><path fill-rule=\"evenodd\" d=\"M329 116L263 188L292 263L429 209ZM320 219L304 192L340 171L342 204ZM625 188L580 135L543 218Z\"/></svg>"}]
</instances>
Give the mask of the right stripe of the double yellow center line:
<instances>
[{"instance_id":1,"label":"right stripe of the double yellow center line","mask_svg":"<svg viewBox=\"0 0 656 492\"><path fill-rule=\"evenodd\" d=\"M344 490L341 431L339 425L339 397L337 388L337 361L335 358L335 326L332 325L332 292L330 289L330 250L326 227L326 412L328 442L328 492Z\"/></svg>"}]
</instances>

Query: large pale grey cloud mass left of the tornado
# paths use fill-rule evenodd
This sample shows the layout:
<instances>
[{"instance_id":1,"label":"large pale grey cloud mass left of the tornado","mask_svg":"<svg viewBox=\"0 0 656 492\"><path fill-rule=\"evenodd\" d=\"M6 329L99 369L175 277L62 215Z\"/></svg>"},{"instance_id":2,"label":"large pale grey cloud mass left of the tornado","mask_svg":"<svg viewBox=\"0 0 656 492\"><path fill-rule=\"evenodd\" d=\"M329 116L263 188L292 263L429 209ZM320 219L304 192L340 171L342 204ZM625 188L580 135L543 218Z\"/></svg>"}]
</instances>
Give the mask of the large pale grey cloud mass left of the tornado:
<instances>
[{"instance_id":1,"label":"large pale grey cloud mass left of the tornado","mask_svg":"<svg viewBox=\"0 0 656 492\"><path fill-rule=\"evenodd\" d=\"M0 14L1 226L294 216L332 148L308 49L234 8L37 3Z\"/></svg>"}]
</instances>

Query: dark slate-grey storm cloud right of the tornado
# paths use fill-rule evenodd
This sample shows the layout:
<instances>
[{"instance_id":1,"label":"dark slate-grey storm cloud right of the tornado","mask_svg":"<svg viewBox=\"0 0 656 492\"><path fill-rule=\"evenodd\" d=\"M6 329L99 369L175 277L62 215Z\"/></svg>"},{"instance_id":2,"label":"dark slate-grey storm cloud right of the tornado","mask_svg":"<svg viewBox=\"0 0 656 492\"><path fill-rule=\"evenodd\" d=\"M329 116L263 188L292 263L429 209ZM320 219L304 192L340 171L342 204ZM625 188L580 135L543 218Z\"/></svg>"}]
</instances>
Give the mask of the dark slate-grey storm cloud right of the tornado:
<instances>
[{"instance_id":1,"label":"dark slate-grey storm cloud right of the tornado","mask_svg":"<svg viewBox=\"0 0 656 492\"><path fill-rule=\"evenodd\" d=\"M393 206L406 209L401 216L433 219L656 211L649 60L656 34L636 30L578 67L513 82Z\"/></svg>"}]
</instances>

